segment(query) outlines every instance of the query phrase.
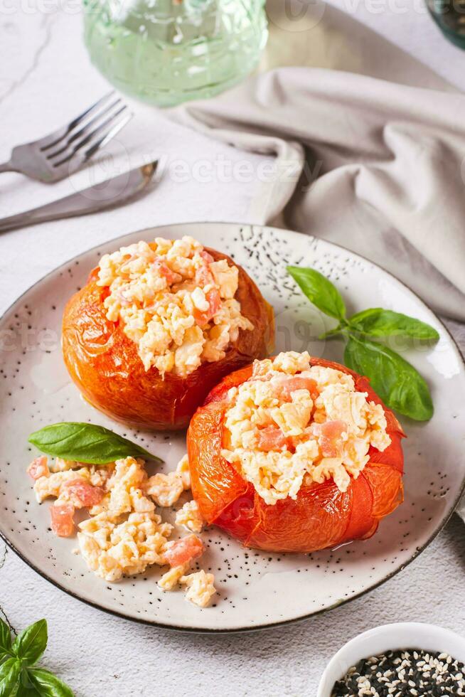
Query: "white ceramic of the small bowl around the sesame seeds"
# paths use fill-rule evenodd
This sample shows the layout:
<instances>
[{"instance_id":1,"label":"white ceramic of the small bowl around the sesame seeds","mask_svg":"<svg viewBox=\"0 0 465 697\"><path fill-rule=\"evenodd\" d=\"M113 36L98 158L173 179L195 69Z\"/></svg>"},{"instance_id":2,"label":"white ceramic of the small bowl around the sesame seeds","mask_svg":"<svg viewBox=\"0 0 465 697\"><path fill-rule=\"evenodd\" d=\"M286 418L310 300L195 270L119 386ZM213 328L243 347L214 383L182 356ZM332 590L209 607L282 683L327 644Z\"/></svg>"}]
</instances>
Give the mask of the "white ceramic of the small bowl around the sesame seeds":
<instances>
[{"instance_id":1,"label":"white ceramic of the small bowl around the sesame seeds","mask_svg":"<svg viewBox=\"0 0 465 697\"><path fill-rule=\"evenodd\" d=\"M351 666L368 656L396 649L424 649L450 654L465 663L465 639L450 629L422 622L397 622L369 629L347 642L329 661L321 676L316 697L331 697L334 683L346 675Z\"/></svg>"}]
</instances>

